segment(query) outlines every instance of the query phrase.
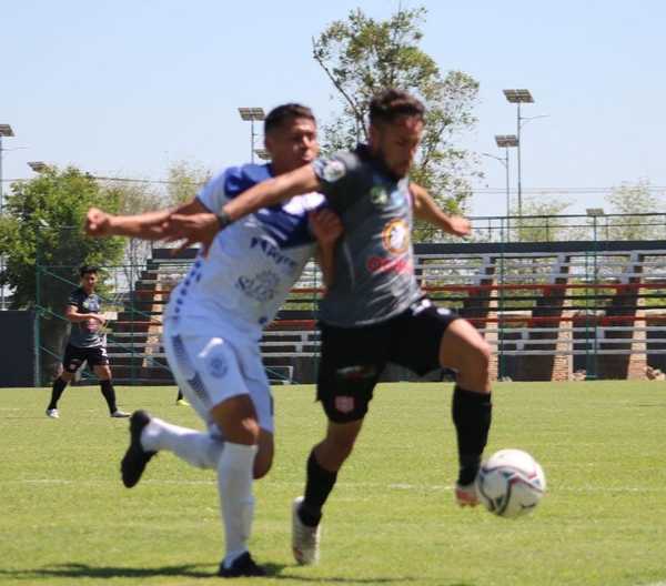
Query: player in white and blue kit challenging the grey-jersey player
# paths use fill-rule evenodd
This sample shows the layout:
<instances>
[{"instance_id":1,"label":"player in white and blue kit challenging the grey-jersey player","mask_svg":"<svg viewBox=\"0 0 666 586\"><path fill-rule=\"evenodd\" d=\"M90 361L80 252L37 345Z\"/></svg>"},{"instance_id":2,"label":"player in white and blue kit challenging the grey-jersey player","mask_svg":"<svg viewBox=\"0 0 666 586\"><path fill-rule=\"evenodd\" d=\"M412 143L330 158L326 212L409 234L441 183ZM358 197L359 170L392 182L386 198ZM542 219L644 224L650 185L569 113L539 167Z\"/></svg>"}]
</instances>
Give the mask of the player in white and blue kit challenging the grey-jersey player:
<instances>
[{"instance_id":1,"label":"player in white and blue kit challenging the grey-jersey player","mask_svg":"<svg viewBox=\"0 0 666 586\"><path fill-rule=\"evenodd\" d=\"M220 210L252 185L317 154L316 125L307 108L274 109L264 131L270 165L228 169L180 211ZM218 471L226 547L219 572L223 577L265 575L248 550L252 478L265 475L273 459L272 398L259 342L315 250L324 279L331 274L342 226L322 203L322 195L310 193L229 226L171 294L164 317L169 365L209 431L179 427L144 411L130 421L131 443L121 463L125 486L134 486L150 458L163 449ZM171 212L112 216L93 209L87 231L94 236L151 238L155 219Z\"/></svg>"}]
</instances>

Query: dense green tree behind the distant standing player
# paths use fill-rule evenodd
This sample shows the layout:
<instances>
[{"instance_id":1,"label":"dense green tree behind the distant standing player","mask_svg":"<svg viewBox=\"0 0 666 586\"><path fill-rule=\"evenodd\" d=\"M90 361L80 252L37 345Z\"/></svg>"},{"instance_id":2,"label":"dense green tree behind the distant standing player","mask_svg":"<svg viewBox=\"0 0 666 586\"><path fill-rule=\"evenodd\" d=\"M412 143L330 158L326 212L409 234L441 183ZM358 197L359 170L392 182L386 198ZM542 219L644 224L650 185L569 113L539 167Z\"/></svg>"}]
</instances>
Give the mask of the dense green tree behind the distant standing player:
<instances>
[{"instance_id":1,"label":"dense green tree behind the distant standing player","mask_svg":"<svg viewBox=\"0 0 666 586\"><path fill-rule=\"evenodd\" d=\"M46 364L57 362L62 350L67 322L61 316L78 283L77 267L115 264L122 255L120 239L85 238L81 230L85 212L91 205L117 211L118 203L92 176L74 168L49 168L11 185L0 220L0 254L6 256L0 282L13 290L13 309L39 305ZM37 271L38 264L44 269Z\"/></svg>"}]
</instances>

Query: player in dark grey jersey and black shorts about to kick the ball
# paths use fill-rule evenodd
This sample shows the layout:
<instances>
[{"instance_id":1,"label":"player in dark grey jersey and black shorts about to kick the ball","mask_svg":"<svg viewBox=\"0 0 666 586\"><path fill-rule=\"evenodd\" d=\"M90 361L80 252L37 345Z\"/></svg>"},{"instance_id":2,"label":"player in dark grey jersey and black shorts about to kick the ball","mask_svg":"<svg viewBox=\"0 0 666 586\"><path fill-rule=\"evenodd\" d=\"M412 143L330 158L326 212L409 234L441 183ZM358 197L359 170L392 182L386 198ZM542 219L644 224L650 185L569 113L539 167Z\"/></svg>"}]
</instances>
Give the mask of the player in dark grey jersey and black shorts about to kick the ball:
<instances>
[{"instance_id":1,"label":"player in dark grey jersey and black shorts about to kick the ball","mask_svg":"<svg viewBox=\"0 0 666 586\"><path fill-rule=\"evenodd\" d=\"M435 307L420 291L410 240L413 215L457 234L427 193L410 185L424 108L410 94L386 90L370 107L370 143L316 160L246 191L215 216L173 216L165 230L209 245L220 225L289 196L320 191L342 220L335 276L321 304L322 358L317 381L329 426L307 461L304 497L293 507L293 552L316 562L322 508L350 455L373 388L386 362L420 374L457 372L453 421L458 444L458 504L476 505L474 479L491 426L490 347L467 321Z\"/></svg>"}]
</instances>

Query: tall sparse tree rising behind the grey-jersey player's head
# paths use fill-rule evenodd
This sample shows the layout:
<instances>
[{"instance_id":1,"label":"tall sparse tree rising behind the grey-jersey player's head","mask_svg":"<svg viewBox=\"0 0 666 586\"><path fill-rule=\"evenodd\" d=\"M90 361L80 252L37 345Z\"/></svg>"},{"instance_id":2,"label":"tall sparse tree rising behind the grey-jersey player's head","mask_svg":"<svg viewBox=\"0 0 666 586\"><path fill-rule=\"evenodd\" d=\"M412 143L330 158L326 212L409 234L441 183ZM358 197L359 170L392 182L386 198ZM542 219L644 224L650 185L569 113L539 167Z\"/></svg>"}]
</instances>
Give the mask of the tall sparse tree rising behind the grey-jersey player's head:
<instances>
[{"instance_id":1,"label":"tall sparse tree rising behind the grey-jersey player's head","mask_svg":"<svg viewBox=\"0 0 666 586\"><path fill-rule=\"evenodd\" d=\"M444 209L460 213L472 194L467 180L478 173L473 158L455 145L455 139L476 122L472 108L478 83L461 71L443 75L421 50L420 27L426 13L425 8L400 9L380 21L356 9L313 40L313 57L342 102L342 113L323 127L323 148L331 152L366 141L372 97L385 88L406 90L427 109L423 143L411 176Z\"/></svg>"}]
</instances>

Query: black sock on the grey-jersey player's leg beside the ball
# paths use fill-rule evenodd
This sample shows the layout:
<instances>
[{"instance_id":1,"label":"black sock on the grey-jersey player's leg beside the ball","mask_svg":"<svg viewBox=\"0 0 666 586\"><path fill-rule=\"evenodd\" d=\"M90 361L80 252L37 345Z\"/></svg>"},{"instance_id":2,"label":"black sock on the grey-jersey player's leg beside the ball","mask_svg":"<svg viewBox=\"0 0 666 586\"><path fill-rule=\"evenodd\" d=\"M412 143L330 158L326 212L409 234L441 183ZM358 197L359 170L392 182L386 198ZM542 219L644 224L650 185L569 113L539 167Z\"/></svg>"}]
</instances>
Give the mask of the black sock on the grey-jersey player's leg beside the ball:
<instances>
[{"instance_id":1,"label":"black sock on the grey-jersey player's leg beside the ball","mask_svg":"<svg viewBox=\"0 0 666 586\"><path fill-rule=\"evenodd\" d=\"M490 393L465 391L458 385L453 391L451 406L458 444L458 484L474 481L481 465L481 455L488 441L493 413Z\"/></svg>"}]
</instances>

